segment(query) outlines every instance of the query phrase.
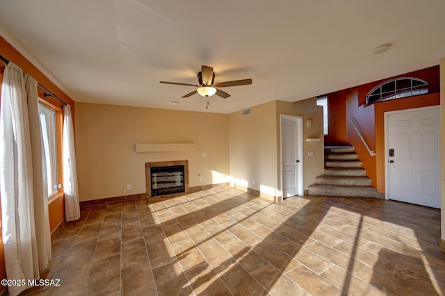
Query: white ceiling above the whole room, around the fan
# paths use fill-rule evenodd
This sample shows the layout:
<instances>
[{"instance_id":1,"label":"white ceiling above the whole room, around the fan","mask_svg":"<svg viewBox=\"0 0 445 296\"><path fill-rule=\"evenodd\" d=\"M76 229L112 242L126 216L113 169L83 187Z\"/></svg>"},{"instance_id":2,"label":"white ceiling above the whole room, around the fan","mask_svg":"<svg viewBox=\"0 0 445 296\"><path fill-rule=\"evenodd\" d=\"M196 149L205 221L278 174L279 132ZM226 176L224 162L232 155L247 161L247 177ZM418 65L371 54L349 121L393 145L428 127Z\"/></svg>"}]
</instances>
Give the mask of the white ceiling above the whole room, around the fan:
<instances>
[{"instance_id":1,"label":"white ceiling above the whole room, around the fan","mask_svg":"<svg viewBox=\"0 0 445 296\"><path fill-rule=\"evenodd\" d=\"M206 111L199 94L181 99L193 87L159 81L197 83L209 65L216 82L253 80L209 98L208 112L232 113L438 65L444 12L443 0L0 0L0 33L74 101Z\"/></svg>"}]
</instances>

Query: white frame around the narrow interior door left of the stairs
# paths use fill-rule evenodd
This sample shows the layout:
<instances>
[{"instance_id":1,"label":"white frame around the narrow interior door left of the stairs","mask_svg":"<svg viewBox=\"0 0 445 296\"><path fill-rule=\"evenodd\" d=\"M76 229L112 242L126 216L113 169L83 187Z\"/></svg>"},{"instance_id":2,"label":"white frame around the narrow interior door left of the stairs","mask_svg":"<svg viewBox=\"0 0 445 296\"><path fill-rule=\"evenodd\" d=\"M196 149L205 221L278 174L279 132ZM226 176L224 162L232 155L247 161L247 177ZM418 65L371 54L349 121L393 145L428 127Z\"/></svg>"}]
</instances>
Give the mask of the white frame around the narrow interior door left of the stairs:
<instances>
[{"instance_id":1,"label":"white frame around the narrow interior door left of the stairs","mask_svg":"<svg viewBox=\"0 0 445 296\"><path fill-rule=\"evenodd\" d=\"M298 149L298 158L300 159L300 165L298 165L298 185L299 185L299 190L298 190L298 195L299 196L303 196L303 192L304 192L304 188L303 188L303 165L304 165L304 161L303 161L303 117L302 116L296 116L296 115L285 115L285 114L280 114L280 182L281 182L281 200L283 200L284 198L284 163L283 163L283 119L287 118L287 119L291 119L291 120L296 120L297 123L297 135L296 135L296 146Z\"/></svg>"}]
</instances>

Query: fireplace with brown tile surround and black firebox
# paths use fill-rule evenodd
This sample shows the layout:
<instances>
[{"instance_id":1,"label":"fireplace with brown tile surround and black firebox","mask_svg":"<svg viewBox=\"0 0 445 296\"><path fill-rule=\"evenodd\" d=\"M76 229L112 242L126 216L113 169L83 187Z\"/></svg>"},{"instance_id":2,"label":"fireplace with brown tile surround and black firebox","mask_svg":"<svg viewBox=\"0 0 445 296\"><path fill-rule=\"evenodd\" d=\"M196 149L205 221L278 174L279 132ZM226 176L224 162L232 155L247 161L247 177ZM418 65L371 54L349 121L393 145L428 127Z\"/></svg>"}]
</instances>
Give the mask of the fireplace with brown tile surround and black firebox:
<instances>
[{"instance_id":1,"label":"fireplace with brown tile surround and black firebox","mask_svg":"<svg viewBox=\"0 0 445 296\"><path fill-rule=\"evenodd\" d=\"M188 161L145 163L145 179L149 196L186 192Z\"/></svg>"}]
</instances>

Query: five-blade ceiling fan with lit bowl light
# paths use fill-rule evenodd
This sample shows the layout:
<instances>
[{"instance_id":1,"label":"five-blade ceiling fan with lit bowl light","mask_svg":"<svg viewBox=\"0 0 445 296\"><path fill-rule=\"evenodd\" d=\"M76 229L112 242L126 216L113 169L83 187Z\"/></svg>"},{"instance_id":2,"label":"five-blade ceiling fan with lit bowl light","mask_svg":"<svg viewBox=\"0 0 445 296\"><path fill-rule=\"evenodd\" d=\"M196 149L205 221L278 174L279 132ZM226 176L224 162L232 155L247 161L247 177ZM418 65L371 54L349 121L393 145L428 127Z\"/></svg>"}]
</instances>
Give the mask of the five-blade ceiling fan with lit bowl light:
<instances>
[{"instance_id":1,"label":"five-blade ceiling fan with lit bowl light","mask_svg":"<svg viewBox=\"0 0 445 296\"><path fill-rule=\"evenodd\" d=\"M230 97L230 94L227 92L223 92L223 90L219 90L218 88L227 88L228 86L238 86L238 85L248 85L252 84L252 79L241 79L234 81L225 81L220 83L214 83L215 73L213 72L213 67L209 66L201 66L201 72L197 74L197 81L199 84L189 84L189 83L177 83L177 82L168 82L168 81L159 81L160 83L167 84L175 84L175 85L188 85L195 86L197 90L193 90L193 92L189 92L188 94L184 94L183 98L190 97L193 94L200 94L202 97L211 97L213 94L216 94L223 99L227 99ZM209 105L209 101L207 101L207 105Z\"/></svg>"}]
</instances>

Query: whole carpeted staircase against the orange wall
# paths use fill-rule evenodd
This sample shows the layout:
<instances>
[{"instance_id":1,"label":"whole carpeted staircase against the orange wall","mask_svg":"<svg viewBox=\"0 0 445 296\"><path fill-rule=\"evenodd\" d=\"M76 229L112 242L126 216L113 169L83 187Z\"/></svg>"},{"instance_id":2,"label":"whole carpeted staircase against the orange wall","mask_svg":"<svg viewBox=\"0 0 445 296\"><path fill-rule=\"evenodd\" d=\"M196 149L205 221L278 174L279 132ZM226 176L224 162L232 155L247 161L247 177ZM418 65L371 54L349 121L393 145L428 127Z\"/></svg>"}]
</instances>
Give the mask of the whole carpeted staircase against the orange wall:
<instances>
[{"instance_id":1,"label":"whole carpeted staircase against the orange wall","mask_svg":"<svg viewBox=\"0 0 445 296\"><path fill-rule=\"evenodd\" d=\"M375 197L377 190L371 186L353 146L326 146L325 172L308 187L309 195L335 195L350 197Z\"/></svg>"}]
</instances>

